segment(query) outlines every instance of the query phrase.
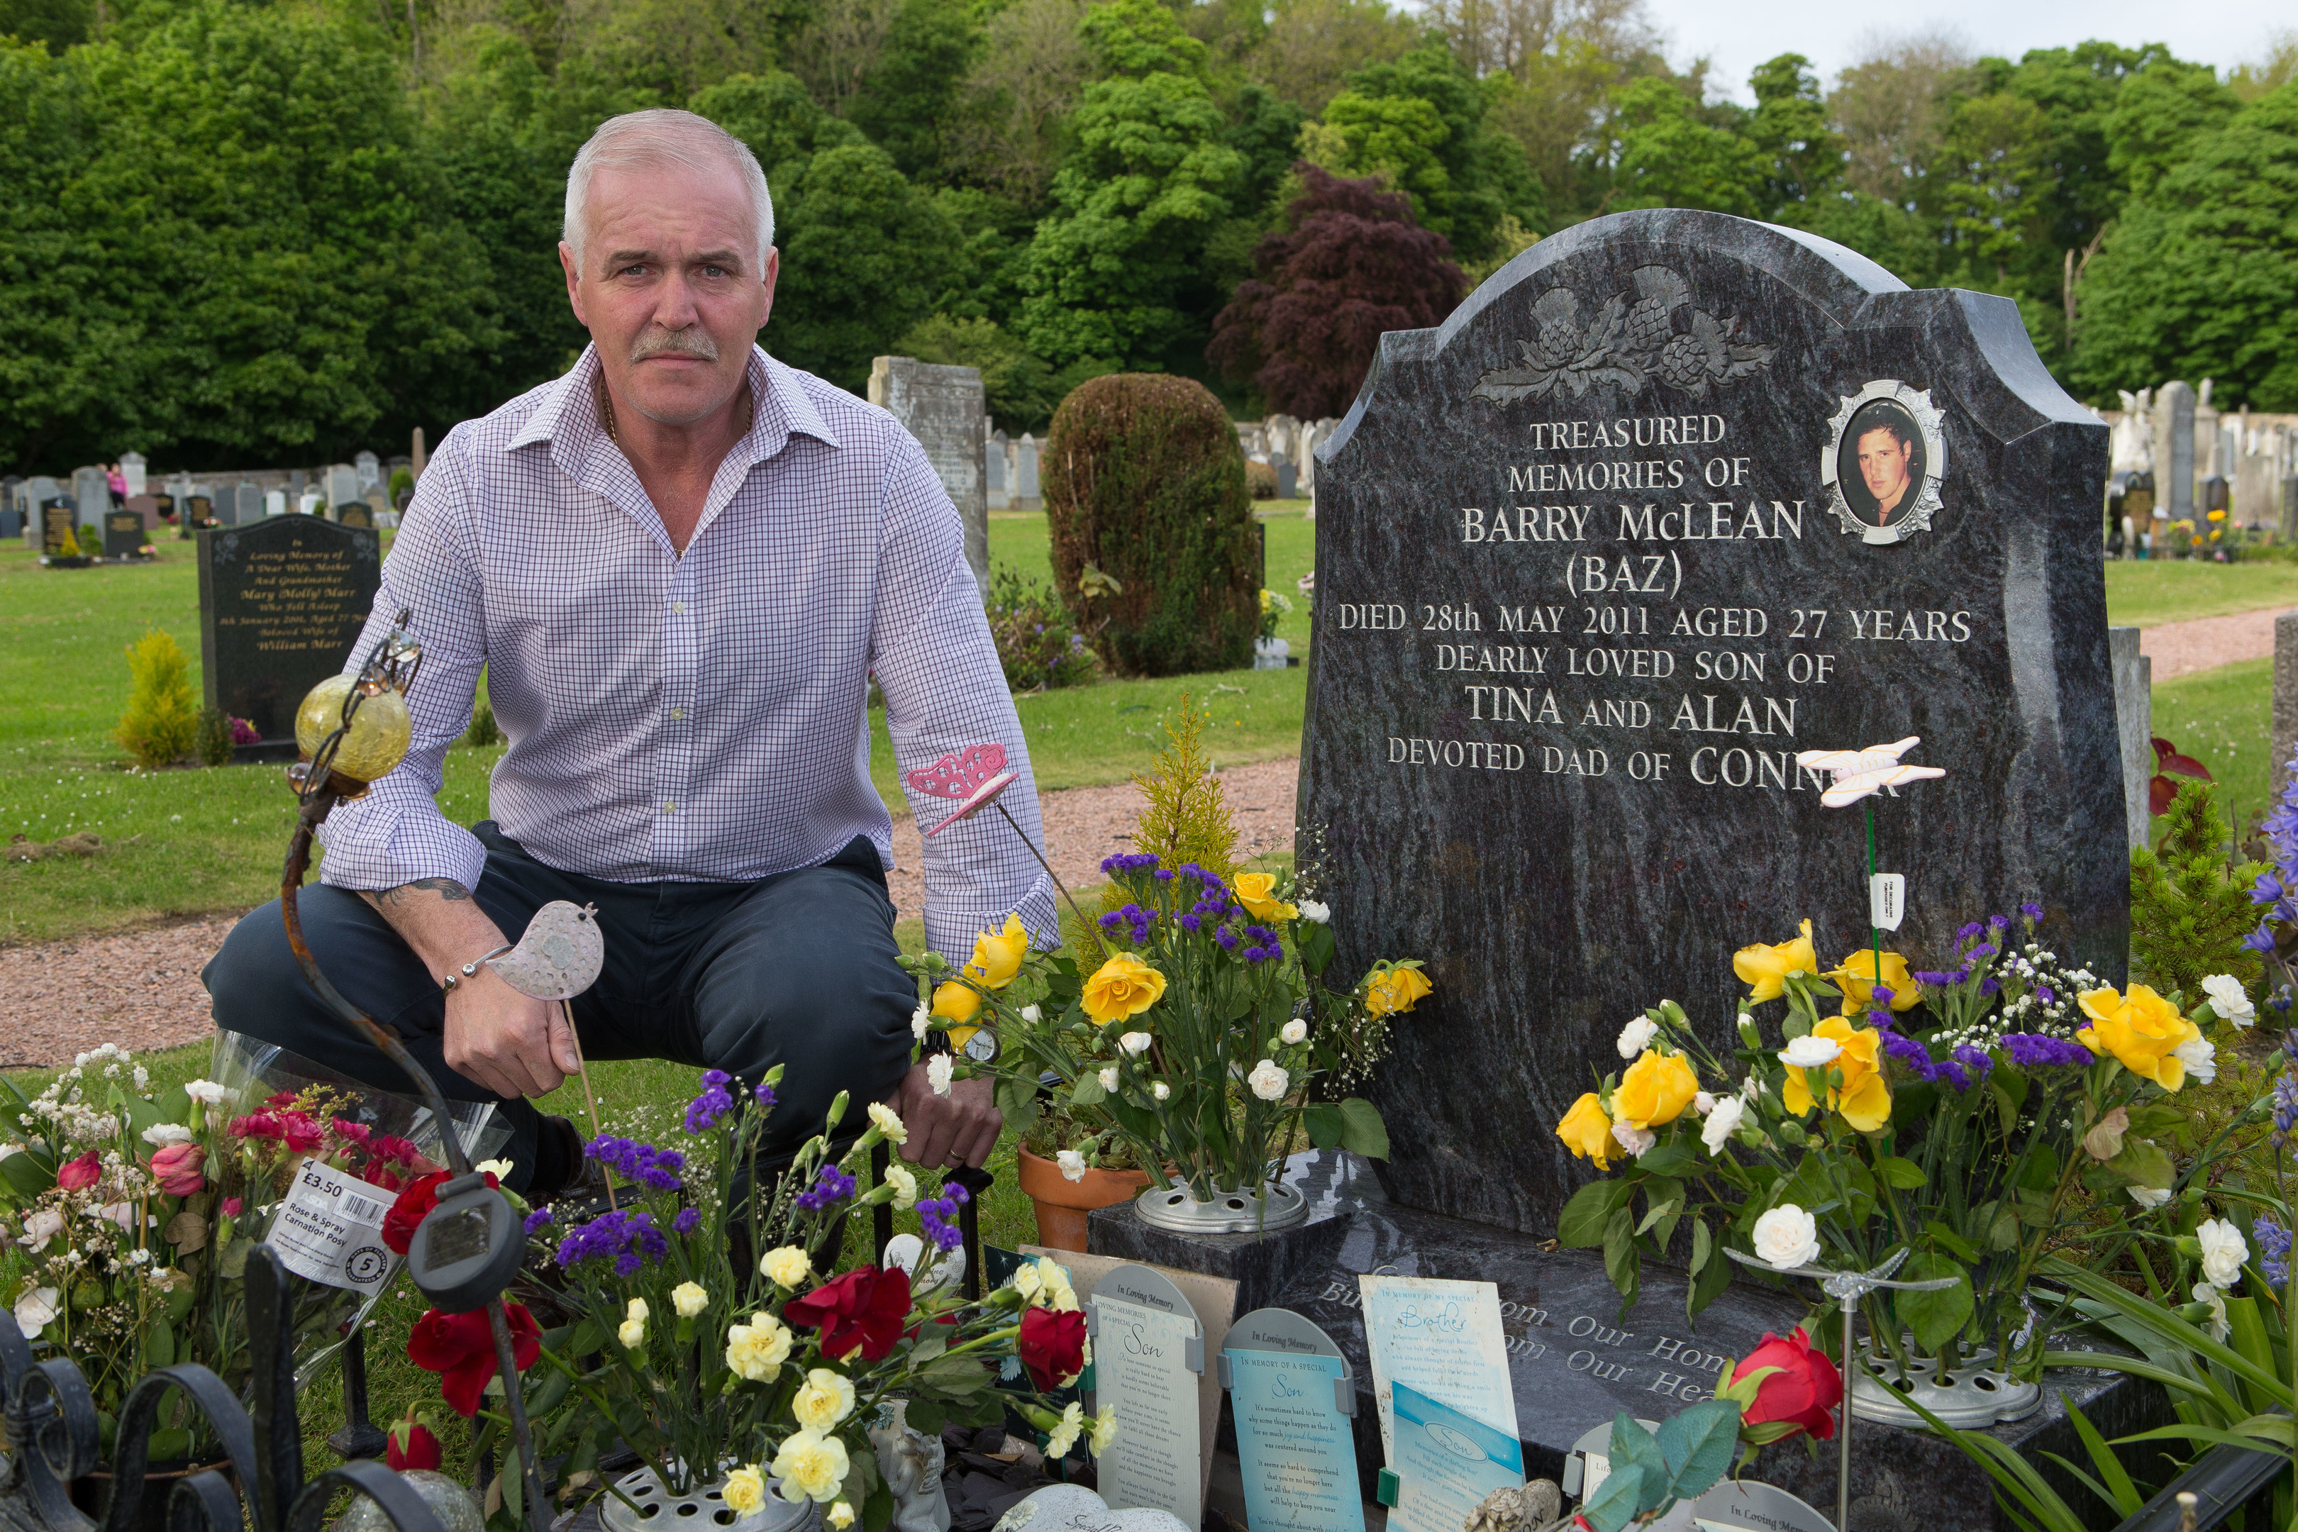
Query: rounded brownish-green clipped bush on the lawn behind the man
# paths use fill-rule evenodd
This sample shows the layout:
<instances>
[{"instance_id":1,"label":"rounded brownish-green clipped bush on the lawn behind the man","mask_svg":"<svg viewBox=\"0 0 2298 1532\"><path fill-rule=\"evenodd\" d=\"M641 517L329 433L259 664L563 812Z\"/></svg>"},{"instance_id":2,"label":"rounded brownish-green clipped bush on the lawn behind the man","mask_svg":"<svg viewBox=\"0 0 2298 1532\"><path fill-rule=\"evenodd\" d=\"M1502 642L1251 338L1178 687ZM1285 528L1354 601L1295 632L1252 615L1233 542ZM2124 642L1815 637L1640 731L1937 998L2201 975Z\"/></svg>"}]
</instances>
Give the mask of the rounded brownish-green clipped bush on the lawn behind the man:
<instances>
[{"instance_id":1,"label":"rounded brownish-green clipped bush on the lawn behind the man","mask_svg":"<svg viewBox=\"0 0 2298 1532\"><path fill-rule=\"evenodd\" d=\"M1112 671L1250 661L1262 572L1246 452L1204 384L1160 372L1080 384L1052 413L1039 485L1062 602Z\"/></svg>"}]
</instances>

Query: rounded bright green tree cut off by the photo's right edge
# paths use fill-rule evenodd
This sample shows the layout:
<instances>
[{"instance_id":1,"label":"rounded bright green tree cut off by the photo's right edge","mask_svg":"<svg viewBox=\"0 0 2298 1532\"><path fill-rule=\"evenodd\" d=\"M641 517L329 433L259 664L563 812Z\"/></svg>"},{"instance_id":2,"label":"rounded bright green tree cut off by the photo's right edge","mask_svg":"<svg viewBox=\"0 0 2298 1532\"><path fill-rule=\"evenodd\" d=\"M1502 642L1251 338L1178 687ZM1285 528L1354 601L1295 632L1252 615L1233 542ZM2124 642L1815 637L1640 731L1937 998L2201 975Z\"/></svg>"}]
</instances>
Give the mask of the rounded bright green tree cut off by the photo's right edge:
<instances>
[{"instance_id":1,"label":"rounded bright green tree cut off by the photo's right edge","mask_svg":"<svg viewBox=\"0 0 2298 1532\"><path fill-rule=\"evenodd\" d=\"M2218 379L2218 397L2298 409L2298 85L2192 142L2107 232L2080 289L2075 379Z\"/></svg>"}]
</instances>

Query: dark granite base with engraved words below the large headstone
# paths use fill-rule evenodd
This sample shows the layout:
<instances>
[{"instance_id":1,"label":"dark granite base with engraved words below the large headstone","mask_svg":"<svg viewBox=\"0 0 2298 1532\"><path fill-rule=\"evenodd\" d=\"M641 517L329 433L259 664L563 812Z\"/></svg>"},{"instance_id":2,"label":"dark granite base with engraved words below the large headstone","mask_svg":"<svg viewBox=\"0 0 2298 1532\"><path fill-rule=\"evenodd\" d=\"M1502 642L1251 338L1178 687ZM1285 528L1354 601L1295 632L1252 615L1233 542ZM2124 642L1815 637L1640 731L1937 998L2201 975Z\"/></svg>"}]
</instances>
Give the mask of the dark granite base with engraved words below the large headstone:
<instances>
[{"instance_id":1,"label":"dark granite base with engraved words below the large headstone","mask_svg":"<svg viewBox=\"0 0 2298 1532\"><path fill-rule=\"evenodd\" d=\"M1657 1419L1707 1399L1735 1357L1753 1351L1767 1330L1786 1332L1806 1307L1786 1289L1735 1279L1696 1321L1687 1321L1684 1277L1645 1263L1638 1302L1622 1316L1620 1293L1597 1252L1556 1249L1553 1240L1390 1204L1372 1167L1347 1153L1296 1155L1285 1178L1308 1194L1310 1220L1280 1233L1167 1233L1140 1222L1131 1204L1119 1204L1092 1215L1087 1240L1094 1254L1229 1277L1239 1284L1239 1312L1273 1305L1319 1323L1356 1371L1356 1465L1365 1500L1374 1498L1383 1454L1358 1314L1356 1279L1363 1275L1448 1277L1501 1289L1524 1470L1549 1479L1563 1472L1572 1442L1615 1410ZM2059 1339L2061 1351L2087 1346L2093 1344ZM2105 1530L2116 1516L2043 1456L2089 1461L2066 1417L2066 1401L2110 1440L2169 1424L2172 1410L2153 1383L2105 1369L2054 1369L2043 1378L2041 1410L1992 1429L1995 1438L2036 1463L2089 1525ZM1227 1417L1220 1440L1234 1449ZM1873 1422L1854 1422L1852 1440L1848 1532L2015 1525L1995 1509L1992 1479L1953 1442ZM2135 1454L2126 1461L2142 1468ZM2169 1477L2160 1463L2142 1472ZM1749 1477L1820 1509L1836 1502L1832 1445L1815 1454L1804 1442L1767 1447Z\"/></svg>"}]
</instances>

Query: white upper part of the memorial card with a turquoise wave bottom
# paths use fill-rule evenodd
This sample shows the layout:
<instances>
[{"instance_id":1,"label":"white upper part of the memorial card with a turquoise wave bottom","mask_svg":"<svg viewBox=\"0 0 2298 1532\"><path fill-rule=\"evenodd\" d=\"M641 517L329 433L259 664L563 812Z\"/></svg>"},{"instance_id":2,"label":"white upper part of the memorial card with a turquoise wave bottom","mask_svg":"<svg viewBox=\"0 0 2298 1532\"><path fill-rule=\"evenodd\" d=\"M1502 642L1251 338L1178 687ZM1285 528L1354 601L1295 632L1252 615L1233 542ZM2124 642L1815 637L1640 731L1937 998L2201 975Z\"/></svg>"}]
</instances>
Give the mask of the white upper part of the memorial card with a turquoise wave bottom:
<instances>
[{"instance_id":1,"label":"white upper part of the memorial card with a turquoise wave bottom","mask_svg":"<svg viewBox=\"0 0 2298 1532\"><path fill-rule=\"evenodd\" d=\"M1507 1380L1501 1289L1491 1282L1358 1277L1372 1394L1381 1410L1381 1452L1397 1461L1390 1390L1406 1383L1425 1399L1517 1440L1517 1390Z\"/></svg>"}]
</instances>

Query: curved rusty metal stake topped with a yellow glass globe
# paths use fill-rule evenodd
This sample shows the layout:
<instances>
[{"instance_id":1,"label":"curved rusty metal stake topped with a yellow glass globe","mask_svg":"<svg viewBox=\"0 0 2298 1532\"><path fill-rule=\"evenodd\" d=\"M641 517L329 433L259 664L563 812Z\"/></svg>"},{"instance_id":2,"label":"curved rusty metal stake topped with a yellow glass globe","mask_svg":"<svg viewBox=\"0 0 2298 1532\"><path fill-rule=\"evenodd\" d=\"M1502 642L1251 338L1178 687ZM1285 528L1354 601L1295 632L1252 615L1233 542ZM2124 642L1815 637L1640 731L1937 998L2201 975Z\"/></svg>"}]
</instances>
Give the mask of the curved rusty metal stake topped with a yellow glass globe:
<instances>
[{"instance_id":1,"label":"curved rusty metal stake topped with a yellow glass globe","mask_svg":"<svg viewBox=\"0 0 2298 1532\"><path fill-rule=\"evenodd\" d=\"M287 841L287 866L280 871L280 919L287 923L287 946L294 951L296 967L303 969L303 978L326 1001L326 1008L375 1043L386 1059L398 1063L414 1084L416 1096L423 1098L423 1105L439 1121L439 1142L453 1178L439 1187L439 1206L423 1220L430 1227L434 1222L462 1224L471 1220L471 1204L480 1201L487 1183L471 1169L471 1155L462 1146L462 1135L455 1130L455 1119L430 1070L414 1061L414 1054L407 1052L395 1031L379 1024L329 983L326 974L319 972L319 962L310 955L310 944L303 939L303 919L296 910L303 875L310 871L313 834L333 813L336 804L365 797L370 783L391 774L407 758L407 744L414 737L414 721L407 712L407 687L414 684L416 673L423 668L423 645L407 632L411 616L409 609L400 609L391 632L368 650L368 661L356 673L329 675L296 707L296 749L303 758L287 767L287 786L294 788L299 811L294 836ZM508 1210L506 1204L503 1213ZM515 1217L508 1220L508 1231L501 1227L501 1220L489 1220L489 1229L494 1231L489 1240L515 1238L524 1243L524 1236L515 1233ZM409 1272L418 1286L423 1286L425 1275L418 1270L418 1252L427 1249L423 1236L425 1229L416 1229L416 1245L409 1249ZM485 1261L480 1256L462 1259L455 1263L455 1272L478 1263L487 1268L499 1266L499 1252ZM535 1459L535 1433L526 1419L526 1396L519 1387L519 1367L510 1346L510 1316L503 1309L499 1286L487 1293L483 1307L487 1309L487 1328L494 1332L494 1360L503 1378L503 1401L510 1406L510 1436L517 1442L519 1475L526 1491L526 1523L533 1532L547 1532L549 1507L542 1500L542 1465Z\"/></svg>"}]
</instances>

